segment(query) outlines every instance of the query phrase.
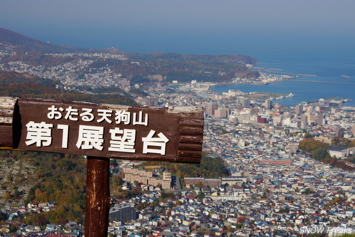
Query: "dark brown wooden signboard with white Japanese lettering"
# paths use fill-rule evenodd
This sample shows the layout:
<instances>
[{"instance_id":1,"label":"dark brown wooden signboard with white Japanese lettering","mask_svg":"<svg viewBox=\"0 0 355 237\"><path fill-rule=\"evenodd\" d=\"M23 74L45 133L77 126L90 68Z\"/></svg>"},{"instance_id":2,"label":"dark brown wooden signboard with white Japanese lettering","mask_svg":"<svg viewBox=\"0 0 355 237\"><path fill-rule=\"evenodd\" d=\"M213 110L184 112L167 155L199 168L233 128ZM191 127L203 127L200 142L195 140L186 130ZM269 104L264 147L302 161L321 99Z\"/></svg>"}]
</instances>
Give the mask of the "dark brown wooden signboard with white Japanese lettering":
<instances>
[{"instance_id":1,"label":"dark brown wooden signboard with white Japanese lettering","mask_svg":"<svg viewBox=\"0 0 355 237\"><path fill-rule=\"evenodd\" d=\"M1 97L0 129L3 148L198 163L203 110Z\"/></svg>"}]
</instances>

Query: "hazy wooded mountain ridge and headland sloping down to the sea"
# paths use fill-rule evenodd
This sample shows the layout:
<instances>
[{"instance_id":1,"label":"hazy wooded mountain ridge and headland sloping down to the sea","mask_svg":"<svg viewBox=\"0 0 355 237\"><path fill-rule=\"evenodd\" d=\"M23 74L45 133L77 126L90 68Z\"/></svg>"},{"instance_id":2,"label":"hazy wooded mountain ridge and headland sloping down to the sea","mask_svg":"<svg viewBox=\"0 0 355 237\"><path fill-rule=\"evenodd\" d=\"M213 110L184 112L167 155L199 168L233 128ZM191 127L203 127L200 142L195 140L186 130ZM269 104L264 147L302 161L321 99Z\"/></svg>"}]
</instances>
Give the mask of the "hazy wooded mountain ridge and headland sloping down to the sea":
<instances>
[{"instance_id":1,"label":"hazy wooded mountain ridge and headland sloping down to the sea","mask_svg":"<svg viewBox=\"0 0 355 237\"><path fill-rule=\"evenodd\" d=\"M115 73L128 78L131 84L149 83L150 81L177 80L189 82L198 79L205 82L230 82L232 78L256 78L259 72L251 71L247 64L255 65L257 61L248 55L195 55L152 52L149 54L127 53L117 48L84 49L44 43L40 40L20 35L0 28L0 50L15 51L1 60L5 67L10 62L22 62L30 67L51 68L65 63L76 65L80 60L92 61L85 69L71 73L73 78L83 78L89 69L109 67ZM88 53L88 55L45 55L46 53ZM94 53L115 56L98 56ZM39 70L39 69L37 69ZM55 69L51 69L54 70ZM6 71L6 70L5 70ZM56 74L53 71L53 74ZM22 72L20 70L20 72ZM97 71L99 72L99 71ZM38 72L42 73L43 72ZM161 77L154 77L158 75Z\"/></svg>"}]
</instances>

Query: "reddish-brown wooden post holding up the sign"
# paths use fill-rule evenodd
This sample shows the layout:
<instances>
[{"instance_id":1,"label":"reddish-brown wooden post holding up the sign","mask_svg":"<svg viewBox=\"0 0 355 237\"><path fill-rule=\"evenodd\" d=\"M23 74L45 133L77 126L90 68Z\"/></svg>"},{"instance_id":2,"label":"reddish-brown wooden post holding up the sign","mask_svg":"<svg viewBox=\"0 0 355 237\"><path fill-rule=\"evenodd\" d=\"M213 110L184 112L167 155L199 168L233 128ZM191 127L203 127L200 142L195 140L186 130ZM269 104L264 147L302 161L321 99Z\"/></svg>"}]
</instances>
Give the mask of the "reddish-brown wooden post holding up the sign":
<instances>
[{"instance_id":1,"label":"reddish-brown wooden post holding up the sign","mask_svg":"<svg viewBox=\"0 0 355 237\"><path fill-rule=\"evenodd\" d=\"M109 160L88 157L85 237L107 237L108 211L112 205L109 190Z\"/></svg>"}]
</instances>

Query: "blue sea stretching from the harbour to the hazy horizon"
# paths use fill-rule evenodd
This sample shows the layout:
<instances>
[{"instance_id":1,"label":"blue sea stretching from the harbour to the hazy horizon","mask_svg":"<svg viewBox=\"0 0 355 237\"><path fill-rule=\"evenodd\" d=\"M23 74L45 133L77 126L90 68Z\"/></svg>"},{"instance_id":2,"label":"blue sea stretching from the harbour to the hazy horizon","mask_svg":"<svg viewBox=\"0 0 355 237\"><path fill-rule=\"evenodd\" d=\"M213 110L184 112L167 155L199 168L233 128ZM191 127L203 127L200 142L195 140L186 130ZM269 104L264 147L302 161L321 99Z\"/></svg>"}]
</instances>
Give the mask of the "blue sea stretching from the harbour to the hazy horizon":
<instances>
[{"instance_id":1,"label":"blue sea stretching from the harbour to the hazy horizon","mask_svg":"<svg viewBox=\"0 0 355 237\"><path fill-rule=\"evenodd\" d=\"M163 34L161 37L157 37L157 34L146 34L144 37L128 34L125 37L121 35L118 37L111 32L109 37L103 40L100 34L92 35L89 31L88 45L85 44L86 40L83 42L82 36L80 38L57 38L60 34L55 35L57 41L54 43L98 49L114 46L124 52L138 53L161 51L201 55L249 55L258 61L257 67L279 69L276 70L277 74L297 73L317 76L302 76L298 79L304 81L283 81L268 85L217 86L213 89L214 92L228 92L231 89L281 94L292 92L295 94L294 97L277 101L284 106L296 106L303 101L338 97L353 99L353 101L344 103L344 106L355 106L355 84L334 83L355 83L355 44L353 42L355 35L350 32L343 35L291 34L274 37L272 34L267 34L267 36L260 34L248 36L247 34L245 37L227 34L221 37L220 34L210 33L201 36L199 34L186 36L184 32L178 34L180 37L176 37L175 33ZM102 33L105 35L105 32ZM65 34L62 35L65 36ZM73 41L66 41L68 39Z\"/></svg>"}]
</instances>

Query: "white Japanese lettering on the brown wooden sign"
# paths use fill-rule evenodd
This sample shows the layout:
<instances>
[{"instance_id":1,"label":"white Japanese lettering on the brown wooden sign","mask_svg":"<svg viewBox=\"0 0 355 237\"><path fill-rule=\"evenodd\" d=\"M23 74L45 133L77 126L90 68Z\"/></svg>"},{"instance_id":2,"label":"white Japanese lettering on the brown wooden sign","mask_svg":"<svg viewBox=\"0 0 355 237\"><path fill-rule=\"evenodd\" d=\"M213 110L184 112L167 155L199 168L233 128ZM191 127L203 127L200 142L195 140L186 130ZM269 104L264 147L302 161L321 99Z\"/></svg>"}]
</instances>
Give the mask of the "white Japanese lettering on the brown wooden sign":
<instances>
[{"instance_id":1,"label":"white Japanese lettering on the brown wooden sign","mask_svg":"<svg viewBox=\"0 0 355 237\"><path fill-rule=\"evenodd\" d=\"M90 125L79 125L79 132L75 146L78 149L104 149L104 133L103 126L101 123L108 123L113 125L119 125L120 127L115 127L109 129L110 141L109 151L114 152L128 152L135 153L135 142L136 142L136 129L124 128L125 125L141 125L148 126L148 114L143 114L142 111L138 113L126 110L110 110L110 109L97 109L97 117L93 113L93 109L82 108L75 109L72 106L68 108L57 108L54 105L48 108L49 112L47 117L51 120L71 120L77 122L97 122L98 126ZM53 129L59 129L62 132L62 148L68 148L70 126L65 124L53 125L46 122L35 122L30 121L26 124L27 127L27 141L25 142L27 146L51 146L52 144L52 131ZM154 137L155 136L155 137ZM150 130L146 137L141 138L143 143L142 152L143 154L156 153L160 155L165 155L166 143L169 139L163 134L158 133L156 135L155 130Z\"/></svg>"}]
</instances>

